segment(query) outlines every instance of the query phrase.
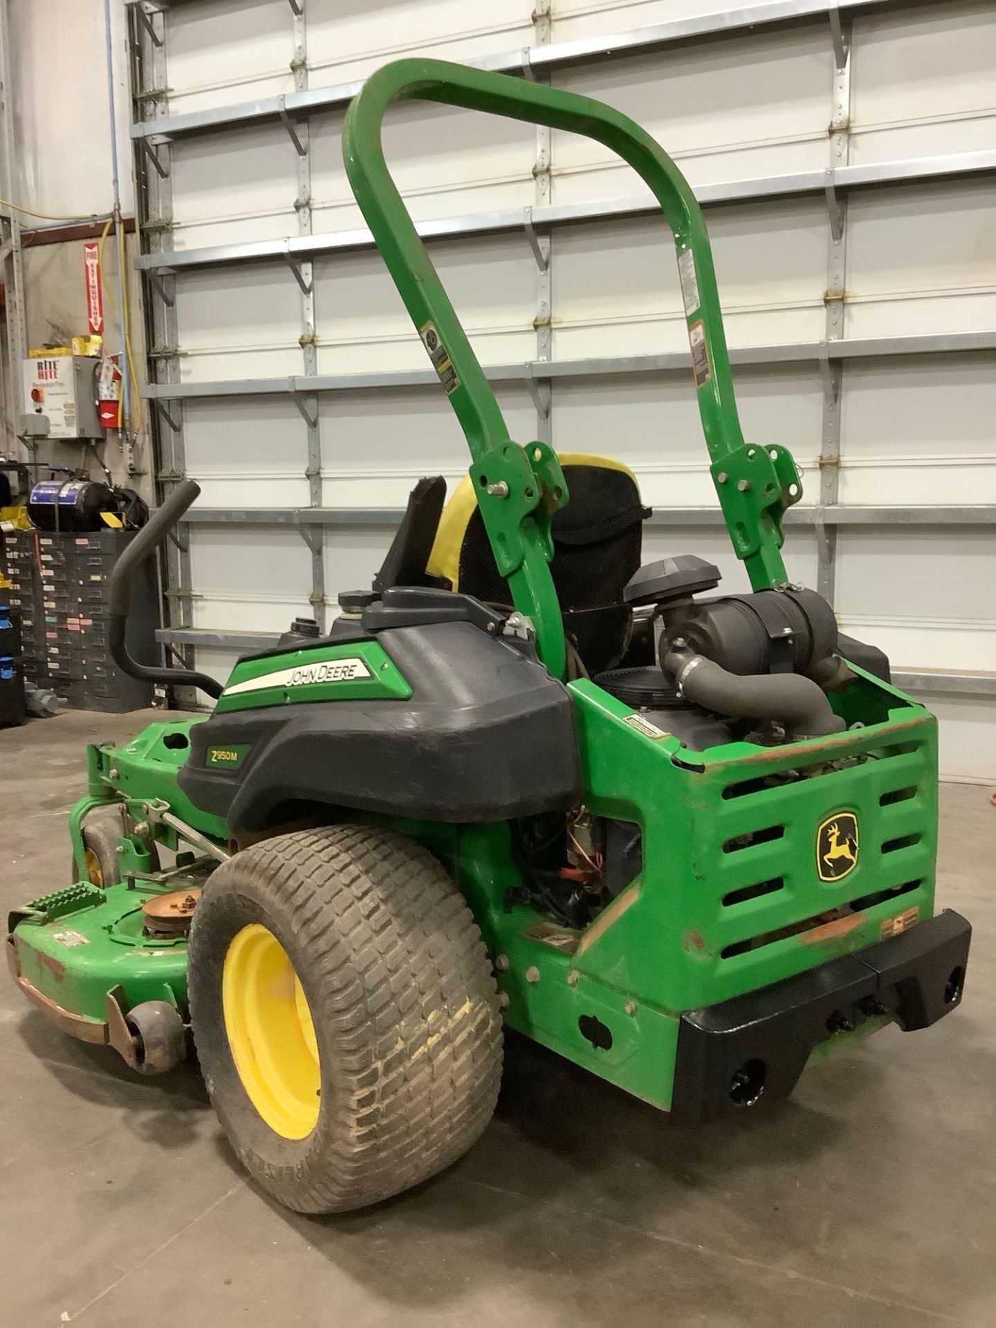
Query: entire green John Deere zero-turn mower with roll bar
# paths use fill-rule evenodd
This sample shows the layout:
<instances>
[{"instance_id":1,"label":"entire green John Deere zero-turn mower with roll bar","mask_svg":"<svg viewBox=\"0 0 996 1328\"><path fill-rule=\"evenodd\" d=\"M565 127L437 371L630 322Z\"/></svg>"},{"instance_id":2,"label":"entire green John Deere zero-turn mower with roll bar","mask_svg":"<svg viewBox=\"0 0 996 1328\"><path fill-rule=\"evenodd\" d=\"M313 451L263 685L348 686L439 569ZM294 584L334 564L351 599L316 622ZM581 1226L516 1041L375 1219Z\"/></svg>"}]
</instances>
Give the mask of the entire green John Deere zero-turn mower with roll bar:
<instances>
[{"instance_id":1,"label":"entire green John Deere zero-turn mower with roll bar","mask_svg":"<svg viewBox=\"0 0 996 1328\"><path fill-rule=\"evenodd\" d=\"M699 408L750 594L640 566L618 462L510 440L381 151L392 102L574 130L645 181L673 235ZM88 752L73 884L15 910L15 981L45 1015L166 1070L193 1031L238 1155L280 1202L353 1208L478 1138L502 1023L684 1122L961 1000L969 926L935 912L936 722L782 563L802 486L745 444L701 212L610 106L434 60L349 108L349 181L466 434L449 503L421 481L373 584L327 635L296 620L216 700Z\"/></svg>"}]
</instances>

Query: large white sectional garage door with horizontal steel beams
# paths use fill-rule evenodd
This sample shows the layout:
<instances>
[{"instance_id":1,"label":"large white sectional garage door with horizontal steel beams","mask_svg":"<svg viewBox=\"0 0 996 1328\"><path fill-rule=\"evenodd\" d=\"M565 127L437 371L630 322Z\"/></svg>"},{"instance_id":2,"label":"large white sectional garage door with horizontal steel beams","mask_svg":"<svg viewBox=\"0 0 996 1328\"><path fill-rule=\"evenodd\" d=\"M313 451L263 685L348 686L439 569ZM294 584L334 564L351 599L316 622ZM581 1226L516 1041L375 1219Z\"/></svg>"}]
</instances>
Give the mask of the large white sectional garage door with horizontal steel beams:
<instances>
[{"instance_id":1,"label":"large white sectional garage door with horizontal steel beams","mask_svg":"<svg viewBox=\"0 0 996 1328\"><path fill-rule=\"evenodd\" d=\"M749 440L806 478L786 560L996 776L996 13L983 0L187 0L133 7L161 475L202 487L165 637L222 676L365 584L466 448L341 163L402 54L588 93L706 206ZM673 247L591 141L408 105L385 147L513 437L611 452L647 559L742 570L717 523ZM332 606L332 607L329 607Z\"/></svg>"}]
</instances>

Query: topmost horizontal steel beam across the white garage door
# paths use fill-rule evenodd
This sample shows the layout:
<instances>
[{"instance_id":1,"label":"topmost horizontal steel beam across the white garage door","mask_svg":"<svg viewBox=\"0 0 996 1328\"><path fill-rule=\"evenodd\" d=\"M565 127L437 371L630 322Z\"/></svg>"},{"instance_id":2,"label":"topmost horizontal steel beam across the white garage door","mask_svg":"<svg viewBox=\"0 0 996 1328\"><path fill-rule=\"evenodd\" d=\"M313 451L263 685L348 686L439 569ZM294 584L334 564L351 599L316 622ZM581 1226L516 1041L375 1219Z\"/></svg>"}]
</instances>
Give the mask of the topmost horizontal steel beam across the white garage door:
<instances>
[{"instance_id":1,"label":"topmost horizontal steel beam across the white garage door","mask_svg":"<svg viewBox=\"0 0 996 1328\"><path fill-rule=\"evenodd\" d=\"M918 0L902 0L906 5ZM696 15L688 19L672 19L629 32L612 33L600 37L580 37L576 41L555 41L544 46L527 46L525 50L507 50L481 60L467 60L465 64L475 69L491 69L497 73L522 74L525 69L540 77L554 69L572 65L602 62L611 57L639 54L673 45L679 41L692 41L697 37L710 37L734 33L744 28L756 28L774 23L799 23L818 19L834 12L850 15L882 8L895 8L894 0L768 0L766 4L753 4L716 13ZM336 84L331 88L313 88L288 93L286 97L255 97L231 106L214 106L208 110L195 110L181 116L169 116L154 127L147 122L131 126L134 138L177 138L181 134L195 134L228 125L254 124L260 120L279 118L282 112L300 118L313 112L337 110L347 106L363 86L363 80Z\"/></svg>"}]
</instances>

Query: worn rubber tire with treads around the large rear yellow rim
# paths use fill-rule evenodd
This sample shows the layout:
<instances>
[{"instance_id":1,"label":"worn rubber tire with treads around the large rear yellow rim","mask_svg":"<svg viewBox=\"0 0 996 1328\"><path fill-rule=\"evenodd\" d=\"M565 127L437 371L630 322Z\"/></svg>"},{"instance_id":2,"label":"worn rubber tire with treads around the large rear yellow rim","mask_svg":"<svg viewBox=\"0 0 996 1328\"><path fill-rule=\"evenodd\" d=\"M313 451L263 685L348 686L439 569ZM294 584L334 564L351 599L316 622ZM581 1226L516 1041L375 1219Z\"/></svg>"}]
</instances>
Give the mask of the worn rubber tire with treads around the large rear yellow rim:
<instances>
[{"instance_id":1,"label":"worn rubber tire with treads around the large rear yellow rim","mask_svg":"<svg viewBox=\"0 0 996 1328\"><path fill-rule=\"evenodd\" d=\"M321 1147L292 1167L268 1162L232 1130L238 1113L226 1110L211 1073L219 1041L230 1056L227 1038L201 1036L199 1019L216 1007L198 983L210 968L211 900L231 891L272 900L286 918L316 1028L328 1021L335 1045L335 1108L323 1102L315 1131ZM301 830L235 855L205 895L190 938L194 1036L236 1151L278 1199L304 1212L360 1207L470 1147L498 1096L501 1013L477 924L426 849L380 827Z\"/></svg>"}]
</instances>

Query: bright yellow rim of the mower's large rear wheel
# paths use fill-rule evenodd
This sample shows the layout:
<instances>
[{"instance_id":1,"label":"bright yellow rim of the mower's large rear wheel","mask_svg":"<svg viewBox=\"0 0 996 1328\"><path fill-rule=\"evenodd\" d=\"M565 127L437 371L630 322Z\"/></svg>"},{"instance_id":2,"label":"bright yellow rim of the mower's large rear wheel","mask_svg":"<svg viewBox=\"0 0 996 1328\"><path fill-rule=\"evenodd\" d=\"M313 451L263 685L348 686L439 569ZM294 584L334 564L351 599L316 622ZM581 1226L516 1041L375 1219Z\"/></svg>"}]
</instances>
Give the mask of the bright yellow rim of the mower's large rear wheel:
<instances>
[{"instance_id":1,"label":"bright yellow rim of the mower's large rear wheel","mask_svg":"<svg viewBox=\"0 0 996 1328\"><path fill-rule=\"evenodd\" d=\"M260 923L232 936L222 973L222 1009L250 1102L275 1134L305 1138L321 1105L315 1024L293 964Z\"/></svg>"}]
</instances>

